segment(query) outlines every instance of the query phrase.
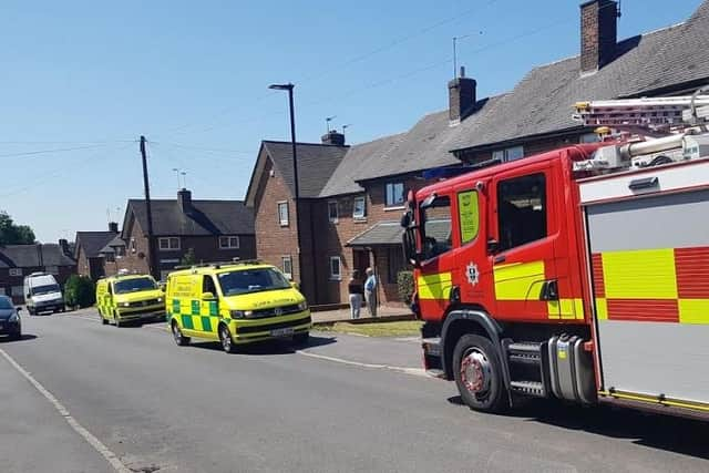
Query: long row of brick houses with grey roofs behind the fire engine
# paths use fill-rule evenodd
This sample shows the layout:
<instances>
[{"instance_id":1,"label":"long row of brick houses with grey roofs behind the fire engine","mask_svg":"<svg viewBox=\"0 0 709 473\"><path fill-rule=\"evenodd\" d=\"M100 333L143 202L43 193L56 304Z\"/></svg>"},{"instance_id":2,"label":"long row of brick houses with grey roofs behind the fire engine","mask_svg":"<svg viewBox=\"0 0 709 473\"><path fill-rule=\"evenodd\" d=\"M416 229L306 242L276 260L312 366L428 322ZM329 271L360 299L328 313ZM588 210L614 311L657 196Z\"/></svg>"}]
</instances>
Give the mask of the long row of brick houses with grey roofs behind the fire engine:
<instances>
[{"instance_id":1,"label":"long row of brick houses with grey roofs behind the fire engine","mask_svg":"<svg viewBox=\"0 0 709 473\"><path fill-rule=\"evenodd\" d=\"M709 83L709 0L685 23L620 42L615 1L587 1L580 18L580 54L533 69L512 91L479 99L476 82L461 73L448 84L448 110L408 132L353 146L337 134L337 157L299 158L299 175L308 176L311 191L320 187L304 198L307 210L298 219L310 228L311 238L301 235L304 266L310 266L301 284L312 288L306 291L312 305L347 302L350 273L367 266L379 275L379 300L398 302L395 276L407 267L399 218L405 192L428 184L428 169L514 161L595 141L593 130L572 120L580 100L687 93ZM331 146L331 136L298 146L299 156L301 148L317 155ZM278 179L292 162L288 152L269 164L265 152L263 144L247 205L255 208L259 257L290 268L282 255L297 251L295 234L279 228L277 216L281 203L292 206Z\"/></svg>"}]
</instances>

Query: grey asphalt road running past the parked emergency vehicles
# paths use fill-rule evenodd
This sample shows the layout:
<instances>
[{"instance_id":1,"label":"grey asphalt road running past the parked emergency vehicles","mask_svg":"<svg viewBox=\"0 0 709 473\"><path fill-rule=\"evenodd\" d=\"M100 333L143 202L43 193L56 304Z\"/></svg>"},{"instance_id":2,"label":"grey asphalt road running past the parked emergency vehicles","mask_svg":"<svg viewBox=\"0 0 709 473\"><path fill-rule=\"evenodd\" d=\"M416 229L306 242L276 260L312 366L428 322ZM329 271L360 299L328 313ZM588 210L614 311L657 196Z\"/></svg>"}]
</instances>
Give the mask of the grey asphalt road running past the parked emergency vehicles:
<instances>
[{"instance_id":1,"label":"grey asphalt road running past the parked emergency vehicles","mask_svg":"<svg viewBox=\"0 0 709 473\"><path fill-rule=\"evenodd\" d=\"M229 356L85 315L24 317L24 331L0 342L18 363L0 356L2 472L709 471L709 424L549 403L475 413L403 369L411 340Z\"/></svg>"}]
</instances>

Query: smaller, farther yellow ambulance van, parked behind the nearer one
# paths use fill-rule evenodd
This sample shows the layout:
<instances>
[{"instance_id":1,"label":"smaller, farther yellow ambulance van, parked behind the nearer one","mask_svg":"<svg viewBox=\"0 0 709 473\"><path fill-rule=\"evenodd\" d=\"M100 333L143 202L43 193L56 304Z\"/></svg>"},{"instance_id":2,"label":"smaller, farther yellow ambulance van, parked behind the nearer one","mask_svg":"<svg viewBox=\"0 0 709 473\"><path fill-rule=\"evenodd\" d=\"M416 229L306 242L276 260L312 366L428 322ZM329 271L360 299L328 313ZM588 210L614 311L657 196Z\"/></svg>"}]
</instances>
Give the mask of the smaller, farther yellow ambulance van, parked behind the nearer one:
<instances>
[{"instance_id":1,"label":"smaller, farther yellow ambulance van, parked behind the nearer one","mask_svg":"<svg viewBox=\"0 0 709 473\"><path fill-rule=\"evenodd\" d=\"M96 282L96 308L103 325L165 319L165 294L148 275L119 275Z\"/></svg>"}]
</instances>

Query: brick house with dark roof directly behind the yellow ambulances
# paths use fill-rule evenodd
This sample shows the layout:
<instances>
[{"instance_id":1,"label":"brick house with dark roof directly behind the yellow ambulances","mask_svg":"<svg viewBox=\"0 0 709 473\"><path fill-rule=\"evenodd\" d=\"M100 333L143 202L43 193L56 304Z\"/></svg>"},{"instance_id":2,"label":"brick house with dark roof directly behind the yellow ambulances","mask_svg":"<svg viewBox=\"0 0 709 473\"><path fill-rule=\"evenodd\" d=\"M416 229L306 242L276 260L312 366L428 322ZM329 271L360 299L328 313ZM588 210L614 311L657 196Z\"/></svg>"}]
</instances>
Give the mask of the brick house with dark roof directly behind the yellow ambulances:
<instances>
[{"instance_id":1,"label":"brick house with dark roof directly behind the yellow ambulances","mask_svg":"<svg viewBox=\"0 0 709 473\"><path fill-rule=\"evenodd\" d=\"M243 202L193 200L192 192L183 188L176 199L152 199L151 204L161 279L179 266L189 250L194 251L197 263L256 257L254 214ZM107 263L112 270L148 273L145 200L129 200L120 239L106 241L102 249L109 260L113 259Z\"/></svg>"}]
</instances>

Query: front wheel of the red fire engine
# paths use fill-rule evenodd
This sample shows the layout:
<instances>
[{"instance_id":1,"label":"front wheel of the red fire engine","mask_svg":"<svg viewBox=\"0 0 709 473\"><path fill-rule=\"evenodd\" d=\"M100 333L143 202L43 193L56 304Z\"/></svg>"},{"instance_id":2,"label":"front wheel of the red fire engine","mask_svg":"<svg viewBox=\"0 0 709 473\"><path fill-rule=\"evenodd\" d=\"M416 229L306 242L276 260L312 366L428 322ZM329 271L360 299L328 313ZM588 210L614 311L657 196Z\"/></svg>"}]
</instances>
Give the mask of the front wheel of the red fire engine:
<instances>
[{"instance_id":1,"label":"front wheel of the red fire engine","mask_svg":"<svg viewBox=\"0 0 709 473\"><path fill-rule=\"evenodd\" d=\"M455 384L471 409L502 412L508 408L502 367L494 346L476 335L464 335L453 351Z\"/></svg>"}]
</instances>

